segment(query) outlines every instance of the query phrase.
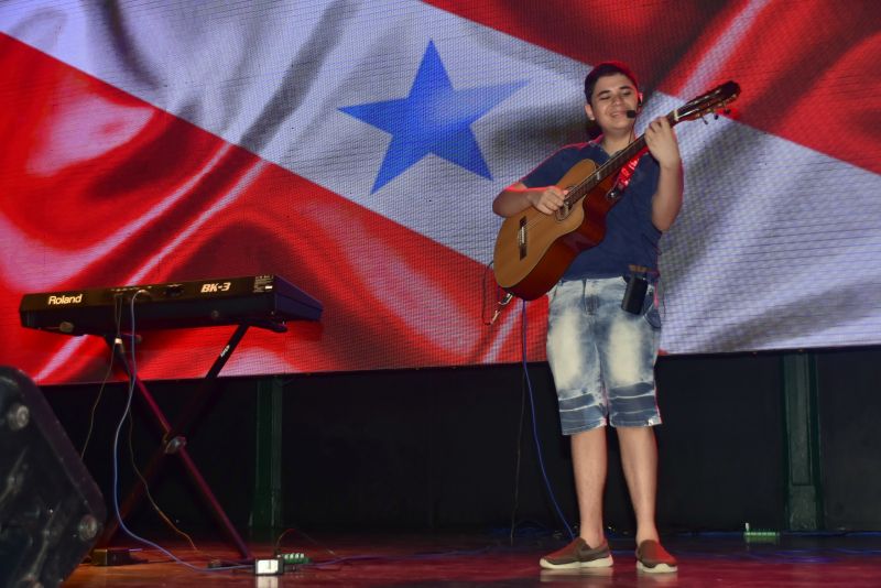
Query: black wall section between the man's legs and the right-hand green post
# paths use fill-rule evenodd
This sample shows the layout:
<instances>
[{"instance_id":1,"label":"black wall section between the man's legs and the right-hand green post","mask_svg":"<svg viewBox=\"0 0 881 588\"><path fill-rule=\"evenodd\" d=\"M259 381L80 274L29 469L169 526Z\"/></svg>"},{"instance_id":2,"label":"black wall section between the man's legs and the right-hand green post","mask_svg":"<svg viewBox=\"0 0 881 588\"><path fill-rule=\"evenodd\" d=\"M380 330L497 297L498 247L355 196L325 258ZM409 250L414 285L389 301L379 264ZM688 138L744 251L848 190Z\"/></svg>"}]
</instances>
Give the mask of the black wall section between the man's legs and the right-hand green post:
<instances>
[{"instance_id":1,"label":"black wall section between the man's legs and the right-hand green post","mask_svg":"<svg viewBox=\"0 0 881 588\"><path fill-rule=\"evenodd\" d=\"M784 524L782 382L777 356L659 362L664 425L659 519L682 529Z\"/></svg>"}]
</instances>

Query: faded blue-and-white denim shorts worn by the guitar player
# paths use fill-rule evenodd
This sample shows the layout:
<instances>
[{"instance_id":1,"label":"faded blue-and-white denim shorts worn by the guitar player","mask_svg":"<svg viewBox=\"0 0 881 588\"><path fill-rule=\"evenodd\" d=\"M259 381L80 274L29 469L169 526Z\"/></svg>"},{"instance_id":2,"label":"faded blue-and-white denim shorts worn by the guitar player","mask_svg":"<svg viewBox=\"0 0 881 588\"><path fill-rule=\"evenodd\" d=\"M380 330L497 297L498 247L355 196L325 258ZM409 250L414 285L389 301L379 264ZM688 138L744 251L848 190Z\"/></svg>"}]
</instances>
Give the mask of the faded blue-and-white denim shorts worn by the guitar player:
<instances>
[{"instance_id":1,"label":"faded blue-and-white denim shorts worn by the guitar player","mask_svg":"<svg viewBox=\"0 0 881 588\"><path fill-rule=\"evenodd\" d=\"M548 293L547 361L564 435L661 423L654 362L661 340L655 288L641 314L621 309L623 277L561 282Z\"/></svg>"}]
</instances>

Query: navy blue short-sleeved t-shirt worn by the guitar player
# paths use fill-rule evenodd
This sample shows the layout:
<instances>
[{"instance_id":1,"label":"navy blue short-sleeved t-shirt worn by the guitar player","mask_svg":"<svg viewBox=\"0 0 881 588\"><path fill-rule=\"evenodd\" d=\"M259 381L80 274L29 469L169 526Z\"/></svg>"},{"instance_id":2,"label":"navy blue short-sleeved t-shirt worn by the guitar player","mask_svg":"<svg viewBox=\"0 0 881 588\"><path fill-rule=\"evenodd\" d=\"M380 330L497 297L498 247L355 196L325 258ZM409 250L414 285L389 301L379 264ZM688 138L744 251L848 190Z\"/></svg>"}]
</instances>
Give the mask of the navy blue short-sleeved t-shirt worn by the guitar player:
<instances>
[{"instance_id":1,"label":"navy blue short-sleeved t-shirt worn by the guitar player","mask_svg":"<svg viewBox=\"0 0 881 588\"><path fill-rule=\"evenodd\" d=\"M573 165L594 160L599 166L609 154L597 143L566 145L547 157L521 182L531 188L559 182ZM661 167L650 153L637 164L621 199L606 215L606 237L581 251L563 274L563 280L614 277L630 273L630 265L657 270L661 231L652 224L652 196L657 189Z\"/></svg>"}]
</instances>

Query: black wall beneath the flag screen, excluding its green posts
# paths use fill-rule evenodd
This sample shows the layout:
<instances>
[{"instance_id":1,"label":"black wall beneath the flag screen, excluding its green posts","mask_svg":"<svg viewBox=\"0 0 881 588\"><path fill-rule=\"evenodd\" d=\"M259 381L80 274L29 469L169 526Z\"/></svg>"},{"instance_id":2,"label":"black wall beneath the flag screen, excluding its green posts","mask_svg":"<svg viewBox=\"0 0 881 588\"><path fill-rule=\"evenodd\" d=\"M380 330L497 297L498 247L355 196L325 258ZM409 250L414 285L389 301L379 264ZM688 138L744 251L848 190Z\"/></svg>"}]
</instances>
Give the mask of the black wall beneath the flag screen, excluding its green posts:
<instances>
[{"instance_id":1,"label":"black wall beneath the flag screen, excluding its green posts","mask_svg":"<svg viewBox=\"0 0 881 588\"><path fill-rule=\"evenodd\" d=\"M880 360L879 350L818 356L828 529L881 529L881 446L873 434L881 414L875 392ZM553 380L545 363L531 366L530 373L544 465L564 514L575 524L570 455L559 434ZM656 429L662 530L733 531L746 522L785 529L780 356L666 357L659 362L657 379L664 416ZM520 366L296 375L285 382L286 524L504 527L513 513L520 523L562 529L539 469ZM213 406L188 435L194 459L241 529L253 505L257 384L253 379L224 380ZM194 388L192 381L152 385L170 416ZM96 392L97 385L45 389L77 447ZM123 385L105 391L85 459L108 498L111 436L123 401ZM159 435L141 402L135 401L134 415L132 444L143 464ZM124 451L127 439L120 445ZM629 532L633 518L611 432L610 440L606 522ZM122 487L131 479L123 453ZM174 460L151 488L183 527L214 529ZM133 524L161 527L145 507Z\"/></svg>"}]
</instances>

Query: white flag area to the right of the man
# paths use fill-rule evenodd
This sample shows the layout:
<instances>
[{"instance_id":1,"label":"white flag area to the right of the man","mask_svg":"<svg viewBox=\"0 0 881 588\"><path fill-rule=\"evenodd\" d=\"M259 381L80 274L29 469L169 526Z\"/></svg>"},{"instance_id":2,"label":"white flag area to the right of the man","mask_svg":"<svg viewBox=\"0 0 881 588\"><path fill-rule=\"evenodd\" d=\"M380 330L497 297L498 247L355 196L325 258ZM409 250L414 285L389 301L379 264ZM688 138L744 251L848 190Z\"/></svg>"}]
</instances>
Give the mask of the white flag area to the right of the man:
<instances>
[{"instance_id":1,"label":"white flag area to the right of the man","mask_svg":"<svg viewBox=\"0 0 881 588\"><path fill-rule=\"evenodd\" d=\"M662 241L663 345L713 352L878 342L881 178L715 124L719 132L705 137L700 126L679 128L690 164L685 208Z\"/></svg>"}]
</instances>

